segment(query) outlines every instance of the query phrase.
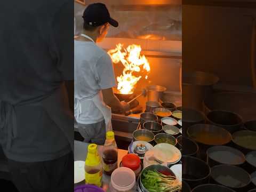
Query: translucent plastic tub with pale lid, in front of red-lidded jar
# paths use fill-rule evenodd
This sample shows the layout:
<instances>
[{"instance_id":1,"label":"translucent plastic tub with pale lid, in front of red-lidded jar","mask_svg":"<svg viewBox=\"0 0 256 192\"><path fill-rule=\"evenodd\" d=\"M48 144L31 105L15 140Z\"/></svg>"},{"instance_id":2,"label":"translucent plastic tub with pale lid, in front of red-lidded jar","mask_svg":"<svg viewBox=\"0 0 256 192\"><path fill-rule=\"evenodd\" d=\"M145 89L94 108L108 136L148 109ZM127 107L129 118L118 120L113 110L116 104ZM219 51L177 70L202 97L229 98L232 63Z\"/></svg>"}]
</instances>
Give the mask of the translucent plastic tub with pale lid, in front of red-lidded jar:
<instances>
[{"instance_id":1,"label":"translucent plastic tub with pale lid, in front of red-lidded jar","mask_svg":"<svg viewBox=\"0 0 256 192\"><path fill-rule=\"evenodd\" d=\"M111 174L109 190L111 192L133 192L136 189L135 173L127 167L119 167Z\"/></svg>"}]
</instances>

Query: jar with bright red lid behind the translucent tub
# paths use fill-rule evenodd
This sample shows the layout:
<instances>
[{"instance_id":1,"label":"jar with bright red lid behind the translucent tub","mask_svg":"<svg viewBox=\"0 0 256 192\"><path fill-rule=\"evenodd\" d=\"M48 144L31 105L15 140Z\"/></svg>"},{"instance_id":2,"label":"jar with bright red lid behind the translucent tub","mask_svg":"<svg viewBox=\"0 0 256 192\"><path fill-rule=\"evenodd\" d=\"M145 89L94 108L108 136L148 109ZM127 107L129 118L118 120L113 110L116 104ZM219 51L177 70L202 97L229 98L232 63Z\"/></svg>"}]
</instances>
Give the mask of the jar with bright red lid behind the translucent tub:
<instances>
[{"instance_id":1,"label":"jar with bright red lid behind the translucent tub","mask_svg":"<svg viewBox=\"0 0 256 192\"><path fill-rule=\"evenodd\" d=\"M134 172L135 177L138 178L142 169L140 157L136 154L125 155L122 159L121 167L130 168Z\"/></svg>"}]
</instances>

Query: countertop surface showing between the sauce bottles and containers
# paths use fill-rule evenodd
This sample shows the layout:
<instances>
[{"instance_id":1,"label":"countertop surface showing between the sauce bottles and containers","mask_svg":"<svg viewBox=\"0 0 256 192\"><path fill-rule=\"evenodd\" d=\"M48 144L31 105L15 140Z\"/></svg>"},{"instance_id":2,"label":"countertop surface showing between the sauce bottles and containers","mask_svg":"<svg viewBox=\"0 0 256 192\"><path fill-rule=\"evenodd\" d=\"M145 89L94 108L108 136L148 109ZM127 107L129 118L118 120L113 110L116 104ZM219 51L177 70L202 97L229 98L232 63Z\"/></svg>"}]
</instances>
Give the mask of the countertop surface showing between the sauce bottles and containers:
<instances>
[{"instance_id":1,"label":"countertop surface showing between the sauce bottles and containers","mask_svg":"<svg viewBox=\"0 0 256 192\"><path fill-rule=\"evenodd\" d=\"M85 161L87 155L87 147L89 143L81 142L81 141L74 141L74 161ZM103 146L98 146L99 155L102 156L102 149ZM118 149L118 167L122 158L127 154L127 150ZM74 187L78 185L83 185L85 182L79 182L74 184ZM110 183L110 176L103 174L103 185L102 189L106 192L109 192L109 183ZM134 191L135 192L135 191Z\"/></svg>"}]
</instances>

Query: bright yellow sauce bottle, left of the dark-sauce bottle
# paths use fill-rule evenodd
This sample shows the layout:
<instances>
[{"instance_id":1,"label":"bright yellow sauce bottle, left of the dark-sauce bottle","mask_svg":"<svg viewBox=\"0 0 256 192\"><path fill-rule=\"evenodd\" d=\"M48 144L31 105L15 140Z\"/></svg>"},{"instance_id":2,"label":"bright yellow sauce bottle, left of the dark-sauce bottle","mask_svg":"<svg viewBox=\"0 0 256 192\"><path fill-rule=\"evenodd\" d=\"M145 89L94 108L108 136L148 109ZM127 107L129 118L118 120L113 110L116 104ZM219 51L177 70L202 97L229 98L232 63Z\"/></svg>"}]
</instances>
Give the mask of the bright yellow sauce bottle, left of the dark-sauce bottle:
<instances>
[{"instance_id":1,"label":"bright yellow sauce bottle, left of the dark-sauce bottle","mask_svg":"<svg viewBox=\"0 0 256 192\"><path fill-rule=\"evenodd\" d=\"M88 153L85 160L85 183L101 187L102 185L102 164L96 144L88 146Z\"/></svg>"}]
</instances>

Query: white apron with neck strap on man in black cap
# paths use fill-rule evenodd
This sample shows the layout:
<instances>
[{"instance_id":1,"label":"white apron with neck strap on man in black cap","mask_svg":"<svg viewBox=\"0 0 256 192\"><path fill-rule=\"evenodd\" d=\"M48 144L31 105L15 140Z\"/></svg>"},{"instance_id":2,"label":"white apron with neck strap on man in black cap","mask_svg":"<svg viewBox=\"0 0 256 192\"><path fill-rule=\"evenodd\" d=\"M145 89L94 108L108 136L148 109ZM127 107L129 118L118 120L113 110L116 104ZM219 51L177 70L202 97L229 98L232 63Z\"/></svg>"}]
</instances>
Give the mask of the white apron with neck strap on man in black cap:
<instances>
[{"instance_id":1,"label":"white apron with neck strap on man in black cap","mask_svg":"<svg viewBox=\"0 0 256 192\"><path fill-rule=\"evenodd\" d=\"M92 41L93 43L95 43L93 41L93 39L85 34L81 34L81 36L89 39L90 41ZM104 120L105 120L105 124L106 124L106 132L107 131L112 131L112 124L111 124L111 108L109 106L106 105L106 103L103 101L103 96L102 96L102 92L99 91L96 95L94 95L93 98L83 98L83 99L78 99L75 98L75 110L77 111L76 114L76 119L79 118L79 116L82 113L82 103L86 103L86 102L93 102L94 105L101 111Z\"/></svg>"}]
</instances>

